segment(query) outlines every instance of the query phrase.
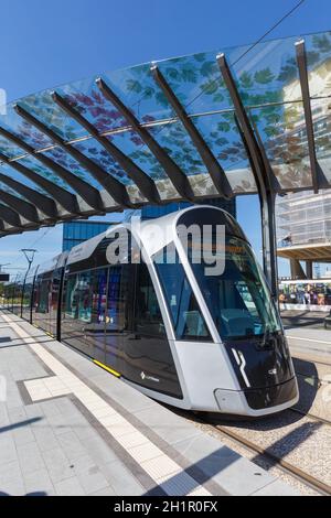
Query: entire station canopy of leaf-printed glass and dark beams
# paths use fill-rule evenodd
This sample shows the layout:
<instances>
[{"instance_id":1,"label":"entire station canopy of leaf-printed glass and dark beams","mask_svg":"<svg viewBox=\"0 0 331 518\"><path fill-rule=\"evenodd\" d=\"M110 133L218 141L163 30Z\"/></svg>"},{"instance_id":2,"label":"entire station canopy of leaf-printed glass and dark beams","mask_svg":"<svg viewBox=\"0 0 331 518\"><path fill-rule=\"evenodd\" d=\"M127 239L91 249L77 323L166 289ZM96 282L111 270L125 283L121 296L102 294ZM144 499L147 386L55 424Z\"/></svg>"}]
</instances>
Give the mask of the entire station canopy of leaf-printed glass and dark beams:
<instances>
[{"instance_id":1,"label":"entire station canopy of leaf-printed glass and dark beams","mask_svg":"<svg viewBox=\"0 0 331 518\"><path fill-rule=\"evenodd\" d=\"M1 108L0 236L331 186L331 32L153 62Z\"/></svg>"}]
</instances>

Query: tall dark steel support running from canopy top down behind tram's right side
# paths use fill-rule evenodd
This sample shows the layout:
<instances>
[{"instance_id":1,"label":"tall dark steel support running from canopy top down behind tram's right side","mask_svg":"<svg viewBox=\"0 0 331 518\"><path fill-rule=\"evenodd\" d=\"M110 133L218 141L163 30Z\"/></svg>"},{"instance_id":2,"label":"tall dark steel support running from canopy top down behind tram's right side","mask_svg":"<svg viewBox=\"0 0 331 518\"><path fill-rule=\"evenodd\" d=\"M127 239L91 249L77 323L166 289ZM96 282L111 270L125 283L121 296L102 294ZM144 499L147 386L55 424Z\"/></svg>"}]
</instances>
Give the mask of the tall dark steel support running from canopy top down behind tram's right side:
<instances>
[{"instance_id":1,"label":"tall dark steel support running from canopy top down behind tram's right side","mask_svg":"<svg viewBox=\"0 0 331 518\"><path fill-rule=\"evenodd\" d=\"M217 56L217 63L223 80L232 98L237 120L242 128L244 145L249 152L248 158L253 166L253 173L260 199L264 271L268 280L273 296L277 299L278 272L275 222L275 198L277 182L274 177L271 168L269 170L266 169L266 164L256 140L254 129L244 108L244 104L224 54ZM265 155L265 160L266 157L267 155Z\"/></svg>"}]
</instances>

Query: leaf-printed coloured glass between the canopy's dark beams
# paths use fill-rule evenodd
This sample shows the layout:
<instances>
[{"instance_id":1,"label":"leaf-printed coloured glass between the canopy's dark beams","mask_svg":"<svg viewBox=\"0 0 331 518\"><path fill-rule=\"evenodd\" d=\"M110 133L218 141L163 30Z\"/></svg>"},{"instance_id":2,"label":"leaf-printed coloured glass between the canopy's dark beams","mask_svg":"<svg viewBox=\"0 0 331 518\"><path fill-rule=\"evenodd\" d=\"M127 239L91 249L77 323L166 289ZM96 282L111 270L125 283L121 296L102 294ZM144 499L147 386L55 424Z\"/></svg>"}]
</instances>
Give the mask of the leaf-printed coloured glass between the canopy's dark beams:
<instances>
[{"instance_id":1,"label":"leaf-printed coloured glass between the canopy's dark beams","mask_svg":"<svg viewBox=\"0 0 331 518\"><path fill-rule=\"evenodd\" d=\"M281 185L287 187L291 184L298 187L311 182L305 145L307 137L302 130L302 107L298 104L301 94L295 53L297 40L289 37L259 43L245 55L247 46L221 50L232 67L243 102L258 129L275 173ZM308 35L305 41L311 95L331 95L331 33ZM193 117L192 120L222 166L236 177L233 180L236 188L248 190L252 188L252 172L234 121L232 101L216 63L218 53L199 53L162 61L157 65L190 115L213 114L205 115L204 118ZM174 114L152 77L150 64L106 73L103 77L140 122L148 125L149 131L185 174L196 175L200 179L199 185L202 185L201 177L206 175L206 170L182 125L173 122L153 126L164 119L172 119ZM100 133L109 132L109 141L118 145L147 174L163 181L164 171L140 137L128 128L118 110L100 94L95 78L96 76L65 85L57 91ZM285 105L285 100L292 104ZM20 104L66 141L87 137L86 130L53 102L51 90L26 96ZM330 154L328 109L328 106L317 106L313 115L316 125L324 125L317 131L317 150L323 159ZM9 108L9 115L0 116L0 125L35 150L52 145L46 136L13 114L12 107ZM117 133L119 130L125 132ZM130 183L125 171L94 139L76 142L74 145L105 171L124 183ZM10 158L22 154L18 147L3 138L0 139L0 152ZM46 153L74 174L96 184L86 170L67 153L57 148ZM45 169L41 169L40 174L47 174L52 181L58 182L56 174L46 172ZM250 180L247 180L247 175L250 175ZM207 177L206 175L206 183Z\"/></svg>"}]
</instances>

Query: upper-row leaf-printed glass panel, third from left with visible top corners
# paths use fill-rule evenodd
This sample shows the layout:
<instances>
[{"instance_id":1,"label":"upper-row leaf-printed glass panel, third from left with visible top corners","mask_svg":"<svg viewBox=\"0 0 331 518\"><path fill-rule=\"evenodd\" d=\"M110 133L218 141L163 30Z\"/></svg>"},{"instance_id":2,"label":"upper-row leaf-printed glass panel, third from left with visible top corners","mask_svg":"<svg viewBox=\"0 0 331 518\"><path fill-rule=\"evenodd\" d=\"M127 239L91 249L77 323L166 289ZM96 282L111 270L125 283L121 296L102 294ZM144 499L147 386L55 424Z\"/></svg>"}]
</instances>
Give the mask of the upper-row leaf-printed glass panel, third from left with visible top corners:
<instances>
[{"instance_id":1,"label":"upper-row leaf-printed glass panel, third from left with visible top corners","mask_svg":"<svg viewBox=\"0 0 331 518\"><path fill-rule=\"evenodd\" d=\"M88 120L99 133L128 126L119 111L103 96L95 84L97 76L83 79L61 88L56 91Z\"/></svg>"}]
</instances>

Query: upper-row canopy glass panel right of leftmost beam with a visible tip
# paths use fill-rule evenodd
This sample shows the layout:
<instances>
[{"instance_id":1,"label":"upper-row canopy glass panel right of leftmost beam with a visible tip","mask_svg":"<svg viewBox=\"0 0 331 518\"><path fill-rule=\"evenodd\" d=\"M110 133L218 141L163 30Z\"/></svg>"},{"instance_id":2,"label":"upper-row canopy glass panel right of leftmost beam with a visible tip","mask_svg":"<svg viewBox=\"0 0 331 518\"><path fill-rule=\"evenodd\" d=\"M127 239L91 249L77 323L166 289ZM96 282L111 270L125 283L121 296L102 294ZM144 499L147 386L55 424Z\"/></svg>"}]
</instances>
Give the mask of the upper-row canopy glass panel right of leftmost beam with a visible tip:
<instances>
[{"instance_id":1,"label":"upper-row canopy glass panel right of leftmost beam with a visible tip","mask_svg":"<svg viewBox=\"0 0 331 518\"><path fill-rule=\"evenodd\" d=\"M53 101L52 93L53 90L44 90L24 97L19 101L19 105L65 141L85 137L87 134L86 130Z\"/></svg>"}]
</instances>

